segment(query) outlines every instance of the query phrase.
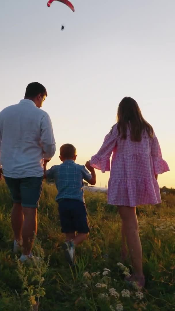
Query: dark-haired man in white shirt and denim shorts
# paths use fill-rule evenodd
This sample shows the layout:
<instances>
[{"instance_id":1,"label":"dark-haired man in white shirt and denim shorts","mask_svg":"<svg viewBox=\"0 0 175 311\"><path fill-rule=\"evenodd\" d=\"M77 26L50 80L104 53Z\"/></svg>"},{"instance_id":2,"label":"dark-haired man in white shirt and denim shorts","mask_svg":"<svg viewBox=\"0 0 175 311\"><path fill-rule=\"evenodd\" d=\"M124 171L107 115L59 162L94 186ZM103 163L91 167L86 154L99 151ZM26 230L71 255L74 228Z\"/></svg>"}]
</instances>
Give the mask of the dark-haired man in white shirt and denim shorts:
<instances>
[{"instance_id":1,"label":"dark-haired man in white shirt and denim shorts","mask_svg":"<svg viewBox=\"0 0 175 311\"><path fill-rule=\"evenodd\" d=\"M55 154L51 120L39 109L46 96L42 84L30 83L24 100L0 112L0 179L3 171L13 199L14 252L23 246L21 262L33 258L43 163Z\"/></svg>"}]
</instances>

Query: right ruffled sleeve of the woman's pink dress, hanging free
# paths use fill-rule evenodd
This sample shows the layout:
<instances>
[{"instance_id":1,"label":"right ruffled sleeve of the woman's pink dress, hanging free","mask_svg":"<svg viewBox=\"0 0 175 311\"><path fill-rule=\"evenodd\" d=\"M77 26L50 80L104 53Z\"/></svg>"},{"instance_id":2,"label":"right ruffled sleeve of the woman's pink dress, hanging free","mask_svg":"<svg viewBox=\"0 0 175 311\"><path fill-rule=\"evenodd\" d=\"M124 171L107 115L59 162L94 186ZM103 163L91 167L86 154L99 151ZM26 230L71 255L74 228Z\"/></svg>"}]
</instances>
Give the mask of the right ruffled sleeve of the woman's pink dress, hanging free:
<instances>
[{"instance_id":1,"label":"right ruffled sleeve of the woman's pink dress, hanging free","mask_svg":"<svg viewBox=\"0 0 175 311\"><path fill-rule=\"evenodd\" d=\"M154 137L152 139L152 145L151 145L151 156L153 160L153 167L154 167L154 174L163 174L165 172L168 172L170 169L168 167L168 164L165 160L162 158L162 152L160 149L160 145L158 142L157 137L154 134Z\"/></svg>"}]
</instances>

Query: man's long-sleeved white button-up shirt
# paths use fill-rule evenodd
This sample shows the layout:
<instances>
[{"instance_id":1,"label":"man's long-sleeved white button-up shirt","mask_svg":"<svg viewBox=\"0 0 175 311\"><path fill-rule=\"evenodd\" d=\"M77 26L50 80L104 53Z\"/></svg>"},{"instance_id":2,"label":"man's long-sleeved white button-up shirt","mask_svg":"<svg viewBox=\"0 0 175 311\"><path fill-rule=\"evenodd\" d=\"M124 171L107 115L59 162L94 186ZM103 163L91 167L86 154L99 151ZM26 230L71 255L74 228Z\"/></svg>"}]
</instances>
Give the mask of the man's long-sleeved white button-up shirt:
<instances>
[{"instance_id":1,"label":"man's long-sleeved white button-up shirt","mask_svg":"<svg viewBox=\"0 0 175 311\"><path fill-rule=\"evenodd\" d=\"M0 165L11 178L41 177L44 159L55 154L49 115L32 100L21 100L0 112Z\"/></svg>"}]
</instances>

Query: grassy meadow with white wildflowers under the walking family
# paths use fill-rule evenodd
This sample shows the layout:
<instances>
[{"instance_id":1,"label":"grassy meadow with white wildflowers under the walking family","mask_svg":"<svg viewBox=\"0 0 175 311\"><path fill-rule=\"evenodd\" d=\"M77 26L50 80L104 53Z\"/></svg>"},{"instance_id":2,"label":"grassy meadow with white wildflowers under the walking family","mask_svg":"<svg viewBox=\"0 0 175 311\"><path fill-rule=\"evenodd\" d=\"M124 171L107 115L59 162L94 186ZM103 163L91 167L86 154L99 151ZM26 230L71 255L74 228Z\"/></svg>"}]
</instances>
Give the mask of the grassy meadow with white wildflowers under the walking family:
<instances>
[{"instance_id":1,"label":"grassy meadow with white wildflowers under the walking family","mask_svg":"<svg viewBox=\"0 0 175 311\"><path fill-rule=\"evenodd\" d=\"M12 252L11 197L0 183L0 310L175 310L175 196L137 208L146 278L142 294L124 282L130 260L121 262L121 223L104 193L85 193L90 237L76 249L76 265L64 260L56 189L44 183L34 252L42 259L21 264ZM105 269L105 270L104 270ZM108 271L108 269L110 271Z\"/></svg>"}]
</instances>

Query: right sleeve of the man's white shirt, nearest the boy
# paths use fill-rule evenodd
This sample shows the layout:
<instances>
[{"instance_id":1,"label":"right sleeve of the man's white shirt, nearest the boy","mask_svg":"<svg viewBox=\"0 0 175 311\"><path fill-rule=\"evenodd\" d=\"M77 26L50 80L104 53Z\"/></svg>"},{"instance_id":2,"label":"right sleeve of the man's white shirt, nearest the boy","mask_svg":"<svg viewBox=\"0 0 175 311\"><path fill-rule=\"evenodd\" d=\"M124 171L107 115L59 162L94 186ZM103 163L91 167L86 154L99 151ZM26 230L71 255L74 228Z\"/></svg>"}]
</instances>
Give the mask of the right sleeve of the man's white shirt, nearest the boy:
<instances>
[{"instance_id":1,"label":"right sleeve of the man's white shirt, nearest the boy","mask_svg":"<svg viewBox=\"0 0 175 311\"><path fill-rule=\"evenodd\" d=\"M43 148L44 160L50 160L55 154L55 139L52 122L48 114L41 120L40 144Z\"/></svg>"}]
</instances>

